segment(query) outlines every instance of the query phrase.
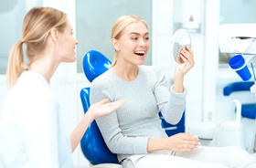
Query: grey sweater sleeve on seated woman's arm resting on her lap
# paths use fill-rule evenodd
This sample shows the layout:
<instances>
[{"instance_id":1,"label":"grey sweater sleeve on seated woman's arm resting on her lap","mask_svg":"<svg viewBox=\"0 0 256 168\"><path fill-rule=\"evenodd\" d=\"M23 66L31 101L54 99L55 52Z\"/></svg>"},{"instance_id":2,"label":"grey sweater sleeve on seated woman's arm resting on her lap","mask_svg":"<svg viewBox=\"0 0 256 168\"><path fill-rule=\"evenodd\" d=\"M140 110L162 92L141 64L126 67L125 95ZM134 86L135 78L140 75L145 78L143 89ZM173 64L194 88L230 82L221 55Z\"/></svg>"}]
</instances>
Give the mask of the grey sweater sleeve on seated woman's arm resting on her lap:
<instances>
[{"instance_id":1,"label":"grey sweater sleeve on seated woman's arm resting on her lap","mask_svg":"<svg viewBox=\"0 0 256 168\"><path fill-rule=\"evenodd\" d=\"M111 83L106 82L103 78L94 79L91 83L91 104L103 99L114 101L114 91L115 89L112 87ZM119 125L116 111L98 118L96 122L111 152L119 154L147 153L146 149L149 137L124 136Z\"/></svg>"}]
</instances>

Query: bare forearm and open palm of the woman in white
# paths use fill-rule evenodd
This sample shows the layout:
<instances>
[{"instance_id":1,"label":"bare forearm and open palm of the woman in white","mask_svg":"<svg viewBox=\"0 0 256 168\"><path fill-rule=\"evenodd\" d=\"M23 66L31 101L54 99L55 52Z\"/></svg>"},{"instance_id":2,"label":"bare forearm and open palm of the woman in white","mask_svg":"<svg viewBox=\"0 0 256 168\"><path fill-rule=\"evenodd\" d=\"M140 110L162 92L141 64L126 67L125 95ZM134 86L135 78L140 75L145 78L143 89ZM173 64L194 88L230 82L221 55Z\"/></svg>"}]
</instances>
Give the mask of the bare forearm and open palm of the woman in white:
<instances>
[{"instance_id":1,"label":"bare forearm and open palm of the woman in white","mask_svg":"<svg viewBox=\"0 0 256 168\"><path fill-rule=\"evenodd\" d=\"M84 114L79 125L70 134L72 152L74 152L79 145L83 134L93 120L103 115L109 114L113 110L117 110L123 106L125 102L125 100L117 100L114 102L109 102L109 100L101 100L100 102L92 104L89 110Z\"/></svg>"}]
</instances>

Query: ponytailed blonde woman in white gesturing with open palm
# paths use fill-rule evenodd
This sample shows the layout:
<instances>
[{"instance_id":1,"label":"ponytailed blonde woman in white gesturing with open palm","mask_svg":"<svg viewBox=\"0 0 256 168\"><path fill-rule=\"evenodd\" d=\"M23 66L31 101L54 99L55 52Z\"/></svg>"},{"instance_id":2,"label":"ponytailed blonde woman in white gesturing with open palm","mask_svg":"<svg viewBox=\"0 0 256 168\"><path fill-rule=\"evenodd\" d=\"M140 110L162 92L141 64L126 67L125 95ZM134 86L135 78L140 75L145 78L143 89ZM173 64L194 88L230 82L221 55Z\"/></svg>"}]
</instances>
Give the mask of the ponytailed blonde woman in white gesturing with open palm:
<instances>
[{"instance_id":1,"label":"ponytailed blonde woman in white gesturing with open palm","mask_svg":"<svg viewBox=\"0 0 256 168\"><path fill-rule=\"evenodd\" d=\"M22 39L10 52L7 68L11 89L1 116L0 167L71 168L71 153L91 121L118 109L125 101L104 99L91 105L69 136L49 81L61 62L76 60L78 40L72 36L66 14L50 7L32 8L25 16L22 31Z\"/></svg>"}]
</instances>

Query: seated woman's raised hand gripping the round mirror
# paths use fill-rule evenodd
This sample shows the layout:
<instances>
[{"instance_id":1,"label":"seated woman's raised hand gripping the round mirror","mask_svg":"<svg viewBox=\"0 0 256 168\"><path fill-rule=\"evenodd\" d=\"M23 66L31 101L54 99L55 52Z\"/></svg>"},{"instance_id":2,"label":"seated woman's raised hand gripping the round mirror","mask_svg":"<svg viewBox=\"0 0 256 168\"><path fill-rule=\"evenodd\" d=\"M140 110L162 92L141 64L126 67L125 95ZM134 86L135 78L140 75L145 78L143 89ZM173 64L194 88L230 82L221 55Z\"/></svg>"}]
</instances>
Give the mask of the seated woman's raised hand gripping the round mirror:
<instances>
[{"instance_id":1,"label":"seated woman's raised hand gripping the round mirror","mask_svg":"<svg viewBox=\"0 0 256 168\"><path fill-rule=\"evenodd\" d=\"M177 57L177 63L186 63L183 68L176 68L176 73L184 76L195 65L193 50L187 46L181 48Z\"/></svg>"}]
</instances>

